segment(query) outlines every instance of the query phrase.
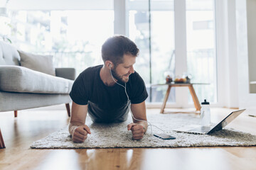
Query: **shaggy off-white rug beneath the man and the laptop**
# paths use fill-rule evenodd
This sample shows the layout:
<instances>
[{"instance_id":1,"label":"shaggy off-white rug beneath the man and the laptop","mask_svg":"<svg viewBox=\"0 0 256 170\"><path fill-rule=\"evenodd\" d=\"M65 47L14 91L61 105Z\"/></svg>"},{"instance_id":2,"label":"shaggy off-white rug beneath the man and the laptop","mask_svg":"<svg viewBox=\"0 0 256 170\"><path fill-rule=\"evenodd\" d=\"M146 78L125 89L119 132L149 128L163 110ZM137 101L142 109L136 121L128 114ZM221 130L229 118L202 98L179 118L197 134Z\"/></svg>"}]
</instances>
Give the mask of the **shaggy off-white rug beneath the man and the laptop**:
<instances>
[{"instance_id":1,"label":"shaggy off-white rug beneath the man and the laptop","mask_svg":"<svg viewBox=\"0 0 256 170\"><path fill-rule=\"evenodd\" d=\"M161 140L151 135L149 127L142 140L132 140L132 132L127 131L127 125L132 118L124 123L99 124L92 123L87 117L86 125L92 132L83 143L74 143L68 132L68 127L53 132L42 140L33 142L31 148L111 148L111 147L214 147L214 146L256 146L256 135L225 128L211 135L193 135L183 132L174 132L184 125L199 124L199 115L177 114L148 114L147 118L152 125L164 130L167 134L176 137L176 140ZM161 130L152 127L153 133Z\"/></svg>"}]
</instances>

